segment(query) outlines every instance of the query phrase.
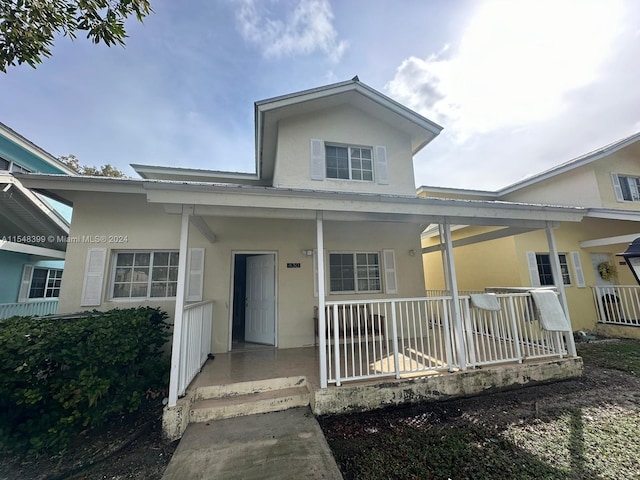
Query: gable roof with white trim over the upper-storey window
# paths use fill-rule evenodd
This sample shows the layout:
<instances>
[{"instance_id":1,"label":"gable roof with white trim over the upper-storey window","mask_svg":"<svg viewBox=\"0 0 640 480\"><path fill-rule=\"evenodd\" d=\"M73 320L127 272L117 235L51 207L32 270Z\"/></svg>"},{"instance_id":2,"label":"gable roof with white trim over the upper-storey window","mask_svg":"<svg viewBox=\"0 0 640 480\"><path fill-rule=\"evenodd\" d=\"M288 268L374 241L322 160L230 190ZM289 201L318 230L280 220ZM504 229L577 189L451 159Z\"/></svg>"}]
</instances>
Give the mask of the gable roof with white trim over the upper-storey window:
<instances>
[{"instance_id":1,"label":"gable roof with white trim over the upper-storey window","mask_svg":"<svg viewBox=\"0 0 640 480\"><path fill-rule=\"evenodd\" d=\"M362 83L358 77L346 82L268 98L255 102L258 176L270 178L273 175L278 122L281 119L343 104L353 105L406 132L411 138L411 152L414 155L442 131L440 125Z\"/></svg>"}]
</instances>

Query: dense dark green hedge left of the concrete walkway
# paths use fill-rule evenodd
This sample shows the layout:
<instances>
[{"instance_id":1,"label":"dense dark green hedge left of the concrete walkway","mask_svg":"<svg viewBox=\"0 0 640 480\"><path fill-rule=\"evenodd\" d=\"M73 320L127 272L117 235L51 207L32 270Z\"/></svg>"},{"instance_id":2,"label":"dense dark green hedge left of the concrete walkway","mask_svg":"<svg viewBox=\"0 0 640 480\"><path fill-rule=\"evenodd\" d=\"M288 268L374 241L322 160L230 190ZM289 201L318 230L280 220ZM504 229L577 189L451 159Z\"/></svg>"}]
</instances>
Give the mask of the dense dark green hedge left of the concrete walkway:
<instances>
[{"instance_id":1,"label":"dense dark green hedge left of the concrete walkway","mask_svg":"<svg viewBox=\"0 0 640 480\"><path fill-rule=\"evenodd\" d=\"M0 321L0 447L61 451L82 430L163 394L166 318L147 307Z\"/></svg>"}]
</instances>

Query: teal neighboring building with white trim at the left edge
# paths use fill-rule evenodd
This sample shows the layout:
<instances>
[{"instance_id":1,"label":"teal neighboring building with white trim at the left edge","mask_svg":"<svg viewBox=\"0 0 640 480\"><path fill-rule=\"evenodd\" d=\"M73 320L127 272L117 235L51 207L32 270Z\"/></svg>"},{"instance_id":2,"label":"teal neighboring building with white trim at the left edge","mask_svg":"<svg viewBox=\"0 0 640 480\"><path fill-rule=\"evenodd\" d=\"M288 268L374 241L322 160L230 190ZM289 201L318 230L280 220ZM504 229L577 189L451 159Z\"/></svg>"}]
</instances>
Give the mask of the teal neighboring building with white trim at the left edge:
<instances>
[{"instance_id":1,"label":"teal neighboring building with white trim at the left edge","mask_svg":"<svg viewBox=\"0 0 640 480\"><path fill-rule=\"evenodd\" d=\"M76 175L0 123L0 318L57 310L71 208L25 188L28 173Z\"/></svg>"}]
</instances>

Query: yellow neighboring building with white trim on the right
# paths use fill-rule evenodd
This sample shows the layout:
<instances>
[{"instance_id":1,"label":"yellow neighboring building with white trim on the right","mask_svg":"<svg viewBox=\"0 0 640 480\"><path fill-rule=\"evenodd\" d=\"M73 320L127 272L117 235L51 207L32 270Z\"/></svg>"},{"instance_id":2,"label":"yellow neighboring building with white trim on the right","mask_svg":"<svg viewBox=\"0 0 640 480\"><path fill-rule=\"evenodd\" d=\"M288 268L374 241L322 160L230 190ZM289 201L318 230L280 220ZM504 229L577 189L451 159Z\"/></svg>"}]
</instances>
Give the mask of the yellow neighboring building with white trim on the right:
<instances>
[{"instance_id":1,"label":"yellow neighboring building with white trim on the right","mask_svg":"<svg viewBox=\"0 0 640 480\"><path fill-rule=\"evenodd\" d=\"M422 186L420 197L580 206L554 230L574 330L640 338L640 287L622 257L640 237L640 133L495 192ZM545 231L451 227L458 289L553 285ZM446 289L438 227L422 235L425 285Z\"/></svg>"}]
</instances>

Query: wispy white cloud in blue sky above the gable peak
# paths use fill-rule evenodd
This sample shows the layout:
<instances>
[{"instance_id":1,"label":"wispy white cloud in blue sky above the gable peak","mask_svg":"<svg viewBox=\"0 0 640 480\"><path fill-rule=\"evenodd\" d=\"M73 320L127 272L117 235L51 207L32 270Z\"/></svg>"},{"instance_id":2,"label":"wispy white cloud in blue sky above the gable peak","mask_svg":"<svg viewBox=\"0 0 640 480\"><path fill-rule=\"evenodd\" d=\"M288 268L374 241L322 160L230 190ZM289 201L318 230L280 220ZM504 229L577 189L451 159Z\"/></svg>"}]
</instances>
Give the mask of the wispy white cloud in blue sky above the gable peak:
<instances>
[{"instance_id":1,"label":"wispy white cloud in blue sky above the gable peak","mask_svg":"<svg viewBox=\"0 0 640 480\"><path fill-rule=\"evenodd\" d=\"M324 52L340 60L348 43L338 40L333 27L333 11L328 0L300 0L286 20L274 18L265 3L243 0L236 12L242 37L258 46L266 58L308 55Z\"/></svg>"}]
</instances>

